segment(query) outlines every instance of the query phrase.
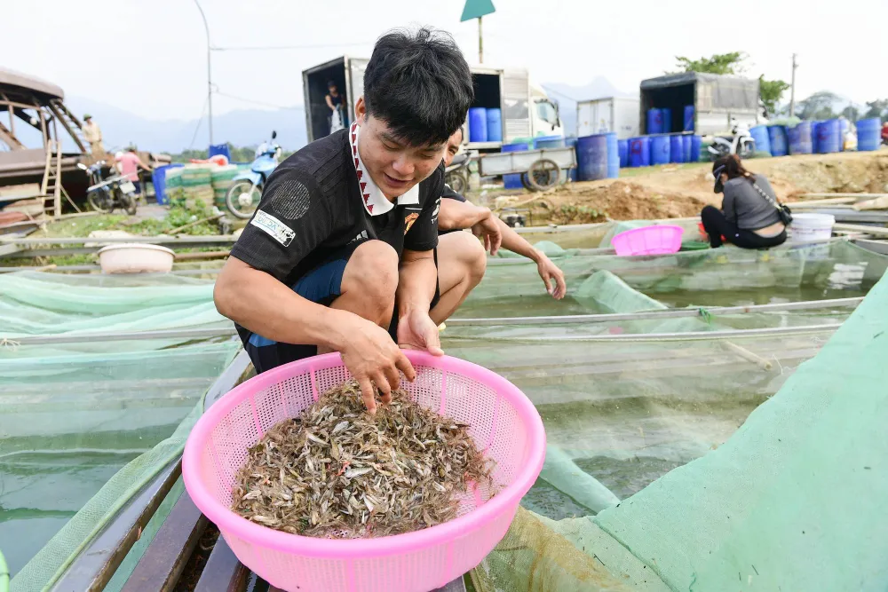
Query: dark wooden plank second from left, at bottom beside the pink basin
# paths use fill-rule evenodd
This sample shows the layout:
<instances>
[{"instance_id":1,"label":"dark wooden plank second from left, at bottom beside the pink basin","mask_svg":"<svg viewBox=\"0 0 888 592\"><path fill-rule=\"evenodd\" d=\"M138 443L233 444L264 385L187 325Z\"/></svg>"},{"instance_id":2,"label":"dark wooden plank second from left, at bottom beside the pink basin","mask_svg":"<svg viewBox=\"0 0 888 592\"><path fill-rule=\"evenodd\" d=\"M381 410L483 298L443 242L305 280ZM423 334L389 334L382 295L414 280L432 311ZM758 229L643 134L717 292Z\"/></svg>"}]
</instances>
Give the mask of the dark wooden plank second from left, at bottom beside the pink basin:
<instances>
[{"instance_id":1,"label":"dark wooden plank second from left, at bottom beside the pink basin","mask_svg":"<svg viewBox=\"0 0 888 592\"><path fill-rule=\"evenodd\" d=\"M206 527L207 517L187 492L182 493L123 584L123 592L170 592Z\"/></svg>"}]
</instances>

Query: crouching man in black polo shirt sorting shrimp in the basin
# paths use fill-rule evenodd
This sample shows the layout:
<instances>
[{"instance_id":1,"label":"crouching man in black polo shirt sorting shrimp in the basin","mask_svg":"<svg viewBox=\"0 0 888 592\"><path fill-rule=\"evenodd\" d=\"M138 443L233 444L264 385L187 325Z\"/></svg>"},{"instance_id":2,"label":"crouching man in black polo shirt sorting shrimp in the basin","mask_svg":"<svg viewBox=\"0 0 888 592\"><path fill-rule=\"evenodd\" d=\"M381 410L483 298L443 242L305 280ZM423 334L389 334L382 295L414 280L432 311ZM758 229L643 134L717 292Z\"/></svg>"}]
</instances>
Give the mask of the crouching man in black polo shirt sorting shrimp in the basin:
<instances>
[{"instance_id":1,"label":"crouching man in black polo shirt sorting shrimp in the basin","mask_svg":"<svg viewBox=\"0 0 888 592\"><path fill-rule=\"evenodd\" d=\"M429 28L380 37L363 88L347 130L268 178L213 297L257 372L338 351L372 412L376 389L388 402L401 372L416 377L400 349L441 355L441 302L474 287L439 283L434 257L444 154L474 91L453 38Z\"/></svg>"}]
</instances>

